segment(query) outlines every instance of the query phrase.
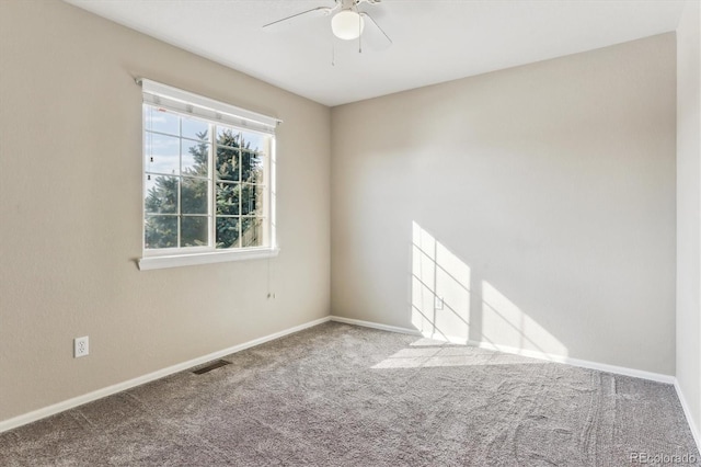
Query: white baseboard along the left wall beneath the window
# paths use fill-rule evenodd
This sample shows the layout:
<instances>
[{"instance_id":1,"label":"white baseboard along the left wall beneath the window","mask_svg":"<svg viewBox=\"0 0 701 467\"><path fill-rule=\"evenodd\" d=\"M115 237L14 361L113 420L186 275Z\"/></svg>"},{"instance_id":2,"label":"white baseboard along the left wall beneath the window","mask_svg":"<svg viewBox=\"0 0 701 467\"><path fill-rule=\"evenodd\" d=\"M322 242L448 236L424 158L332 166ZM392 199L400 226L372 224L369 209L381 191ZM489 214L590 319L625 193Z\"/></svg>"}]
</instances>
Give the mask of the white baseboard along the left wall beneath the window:
<instances>
[{"instance_id":1,"label":"white baseboard along the left wall beneath the window","mask_svg":"<svg viewBox=\"0 0 701 467\"><path fill-rule=\"evenodd\" d=\"M193 366L202 365L203 363L210 362L212 360L221 358L222 356L230 355L232 353L241 352L242 350L253 348L255 345L260 345L262 343L273 341L275 339L304 330L307 328L312 328L314 326L326 322L331 319L331 317L320 318L313 321L306 322L300 326L296 326L290 329L286 329L284 331L275 332L269 335L265 335L263 338L254 339L249 342L244 342L242 344L233 345L228 349L220 350L218 352L214 352L207 355L203 355L197 358L193 358L187 362L179 363L177 365L169 366L168 368L159 369L153 373L149 373L148 375L139 376L134 379L129 379L127 381L117 383L116 385L107 386L102 389L97 389L92 392L88 392L82 396L74 397L72 399L65 400L62 402L55 403L53 406L45 407L43 409L34 410L28 413L24 413L22 415L14 417L12 419L0 421L0 433L15 429L18 426L25 425L27 423L35 422L41 419L45 419L50 415L55 415L56 413L64 412L69 409L73 409L78 406L82 406L88 402L92 402L97 399L102 399L103 397L112 396L113 394L120 392L126 389L130 389L136 386L140 386L146 383L153 381L156 379L163 378L165 376L172 375L174 373L183 372L185 369L192 368Z\"/></svg>"}]
</instances>

